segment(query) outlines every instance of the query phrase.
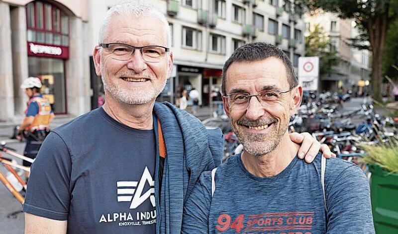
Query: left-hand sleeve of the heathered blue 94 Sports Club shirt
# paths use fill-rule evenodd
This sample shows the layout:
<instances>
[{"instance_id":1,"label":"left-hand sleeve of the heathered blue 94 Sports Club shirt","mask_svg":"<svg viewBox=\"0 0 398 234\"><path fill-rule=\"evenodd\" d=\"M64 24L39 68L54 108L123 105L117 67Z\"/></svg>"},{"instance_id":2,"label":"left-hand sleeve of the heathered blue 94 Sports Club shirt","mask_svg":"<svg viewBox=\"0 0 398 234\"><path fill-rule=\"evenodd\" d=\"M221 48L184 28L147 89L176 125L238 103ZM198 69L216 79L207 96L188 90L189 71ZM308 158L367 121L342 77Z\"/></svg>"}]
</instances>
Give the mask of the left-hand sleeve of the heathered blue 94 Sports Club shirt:
<instances>
[{"instance_id":1,"label":"left-hand sleeve of the heathered blue 94 Sports Club shirt","mask_svg":"<svg viewBox=\"0 0 398 234\"><path fill-rule=\"evenodd\" d=\"M208 183L208 186L206 186ZM202 173L184 205L182 234L208 234L211 176Z\"/></svg>"}]
</instances>

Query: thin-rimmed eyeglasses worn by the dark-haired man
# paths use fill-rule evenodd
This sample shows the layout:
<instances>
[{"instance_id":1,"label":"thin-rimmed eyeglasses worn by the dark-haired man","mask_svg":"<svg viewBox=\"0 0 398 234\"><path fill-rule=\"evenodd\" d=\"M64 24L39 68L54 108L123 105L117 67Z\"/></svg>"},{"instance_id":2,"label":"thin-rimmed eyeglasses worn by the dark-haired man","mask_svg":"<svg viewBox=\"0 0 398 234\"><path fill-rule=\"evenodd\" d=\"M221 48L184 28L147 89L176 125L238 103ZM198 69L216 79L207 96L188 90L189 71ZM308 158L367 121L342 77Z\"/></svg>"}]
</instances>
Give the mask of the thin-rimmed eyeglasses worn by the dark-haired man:
<instances>
[{"instance_id":1,"label":"thin-rimmed eyeglasses worn by the dark-haired man","mask_svg":"<svg viewBox=\"0 0 398 234\"><path fill-rule=\"evenodd\" d=\"M283 92L279 92L278 90L264 90L252 95L248 93L231 93L223 97L227 99L227 105L231 109L246 109L249 106L251 97L256 97L263 107L272 107L294 88L295 87Z\"/></svg>"}]
</instances>

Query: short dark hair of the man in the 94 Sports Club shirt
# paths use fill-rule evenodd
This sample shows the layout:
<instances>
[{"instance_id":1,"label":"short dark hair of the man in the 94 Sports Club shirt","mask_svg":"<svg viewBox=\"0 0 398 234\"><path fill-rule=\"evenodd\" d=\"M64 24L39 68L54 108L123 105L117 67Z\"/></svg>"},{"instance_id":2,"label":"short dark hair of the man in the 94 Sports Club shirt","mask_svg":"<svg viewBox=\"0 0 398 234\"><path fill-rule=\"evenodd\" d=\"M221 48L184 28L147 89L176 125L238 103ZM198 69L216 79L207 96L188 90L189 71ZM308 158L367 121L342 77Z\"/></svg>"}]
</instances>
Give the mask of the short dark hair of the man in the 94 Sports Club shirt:
<instances>
[{"instance_id":1,"label":"short dark hair of the man in the 94 Sports Club shirt","mask_svg":"<svg viewBox=\"0 0 398 234\"><path fill-rule=\"evenodd\" d=\"M226 74L229 66L234 62L251 62L251 61L261 61L266 58L278 58L280 59L286 68L286 73L288 74L288 82L290 88L293 88L298 85L298 79L295 73L295 69L293 68L292 62L289 57L279 49L277 46L274 46L265 42L254 42L246 44L242 47L236 49L232 55L227 59L224 63L224 67L222 68L222 83L221 83L221 91L223 95L226 95Z\"/></svg>"}]
</instances>

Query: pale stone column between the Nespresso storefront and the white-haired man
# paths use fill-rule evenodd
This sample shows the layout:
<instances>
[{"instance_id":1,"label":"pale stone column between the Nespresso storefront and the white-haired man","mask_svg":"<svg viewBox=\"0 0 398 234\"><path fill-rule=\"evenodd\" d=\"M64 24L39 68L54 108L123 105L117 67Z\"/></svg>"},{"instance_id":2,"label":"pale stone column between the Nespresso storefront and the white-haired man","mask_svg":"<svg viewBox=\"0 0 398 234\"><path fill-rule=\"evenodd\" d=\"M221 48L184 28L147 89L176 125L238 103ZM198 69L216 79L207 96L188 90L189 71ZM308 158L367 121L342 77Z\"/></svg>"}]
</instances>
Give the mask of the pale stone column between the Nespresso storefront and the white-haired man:
<instances>
[{"instance_id":1,"label":"pale stone column between the Nespresso storefront and the white-haired man","mask_svg":"<svg viewBox=\"0 0 398 234\"><path fill-rule=\"evenodd\" d=\"M91 110L90 65L85 53L86 24L81 18L69 17L69 60L66 63L68 113L80 116Z\"/></svg>"}]
</instances>

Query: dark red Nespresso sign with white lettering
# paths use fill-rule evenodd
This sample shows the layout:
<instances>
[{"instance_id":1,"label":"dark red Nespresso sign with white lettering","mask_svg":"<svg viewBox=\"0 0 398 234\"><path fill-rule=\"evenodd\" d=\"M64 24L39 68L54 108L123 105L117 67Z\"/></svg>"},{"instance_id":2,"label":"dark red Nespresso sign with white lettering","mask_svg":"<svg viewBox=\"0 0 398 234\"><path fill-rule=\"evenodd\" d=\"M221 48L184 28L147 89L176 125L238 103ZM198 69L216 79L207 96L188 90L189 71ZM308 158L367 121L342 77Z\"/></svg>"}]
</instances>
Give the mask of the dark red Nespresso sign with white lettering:
<instances>
[{"instance_id":1,"label":"dark red Nespresso sign with white lettering","mask_svg":"<svg viewBox=\"0 0 398 234\"><path fill-rule=\"evenodd\" d=\"M69 58L69 47L28 42L28 55L47 58Z\"/></svg>"}]
</instances>

